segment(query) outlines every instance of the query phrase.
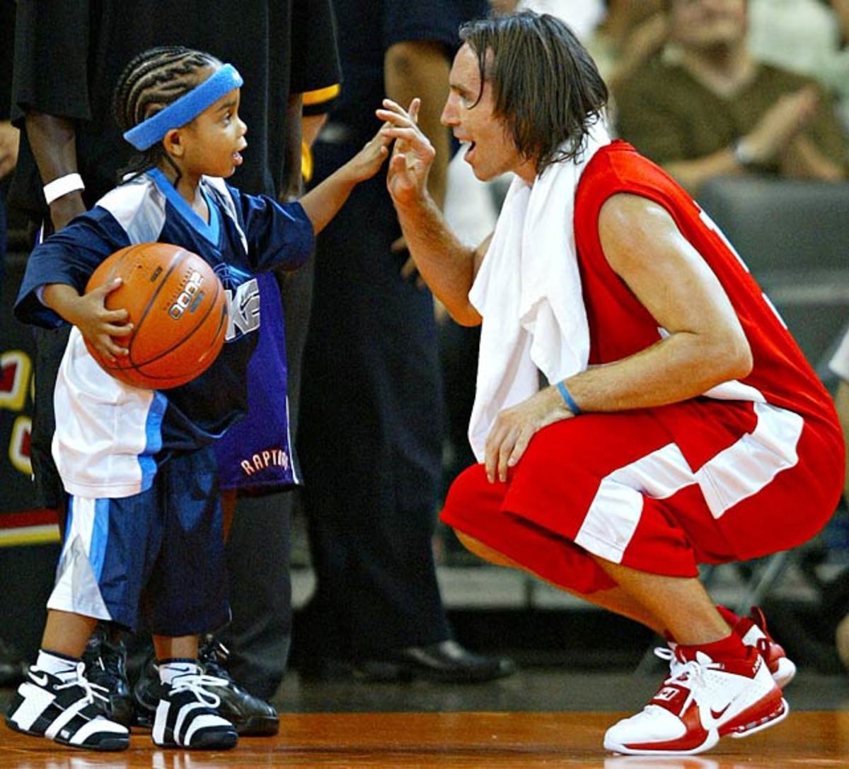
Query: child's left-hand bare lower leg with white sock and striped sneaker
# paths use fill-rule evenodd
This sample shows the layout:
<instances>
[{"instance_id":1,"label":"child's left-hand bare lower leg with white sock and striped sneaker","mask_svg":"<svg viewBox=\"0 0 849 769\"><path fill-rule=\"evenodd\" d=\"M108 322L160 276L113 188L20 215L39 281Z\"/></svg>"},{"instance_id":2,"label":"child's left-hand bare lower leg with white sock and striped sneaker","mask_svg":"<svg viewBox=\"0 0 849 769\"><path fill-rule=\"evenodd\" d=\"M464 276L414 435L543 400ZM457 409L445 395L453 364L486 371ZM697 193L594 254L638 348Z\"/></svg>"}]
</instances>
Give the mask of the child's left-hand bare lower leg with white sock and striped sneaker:
<instances>
[{"instance_id":1,"label":"child's left-hand bare lower leg with white sock and striped sneaker","mask_svg":"<svg viewBox=\"0 0 849 769\"><path fill-rule=\"evenodd\" d=\"M80 660L96 623L93 617L70 611L48 611L36 664L9 705L9 727L75 748L127 748L127 727L104 716L103 689L88 682Z\"/></svg>"}]
</instances>

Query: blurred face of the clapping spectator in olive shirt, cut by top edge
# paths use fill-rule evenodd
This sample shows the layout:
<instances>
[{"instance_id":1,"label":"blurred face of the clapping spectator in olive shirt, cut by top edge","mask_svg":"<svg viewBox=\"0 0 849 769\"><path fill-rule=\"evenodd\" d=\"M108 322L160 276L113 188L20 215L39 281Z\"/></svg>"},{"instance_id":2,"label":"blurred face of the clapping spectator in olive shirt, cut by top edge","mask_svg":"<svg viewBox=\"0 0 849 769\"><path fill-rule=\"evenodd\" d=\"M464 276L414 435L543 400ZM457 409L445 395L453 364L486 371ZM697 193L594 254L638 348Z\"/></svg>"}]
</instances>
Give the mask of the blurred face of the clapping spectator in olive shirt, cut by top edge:
<instances>
[{"instance_id":1,"label":"blurred face of the clapping spectator in olive shirt, cut by top edge","mask_svg":"<svg viewBox=\"0 0 849 769\"><path fill-rule=\"evenodd\" d=\"M685 48L710 50L745 42L746 0L672 0L670 36Z\"/></svg>"}]
</instances>

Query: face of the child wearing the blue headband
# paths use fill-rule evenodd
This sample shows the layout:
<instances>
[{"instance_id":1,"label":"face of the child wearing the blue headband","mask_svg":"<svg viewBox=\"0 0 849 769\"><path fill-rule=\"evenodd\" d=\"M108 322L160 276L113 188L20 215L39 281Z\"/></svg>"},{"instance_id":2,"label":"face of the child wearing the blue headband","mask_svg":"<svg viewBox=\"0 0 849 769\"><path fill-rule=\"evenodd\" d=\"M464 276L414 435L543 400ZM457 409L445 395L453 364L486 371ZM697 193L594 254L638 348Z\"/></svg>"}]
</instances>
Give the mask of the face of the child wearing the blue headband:
<instances>
[{"instance_id":1,"label":"face of the child wearing the blue headband","mask_svg":"<svg viewBox=\"0 0 849 769\"><path fill-rule=\"evenodd\" d=\"M180 129L183 173L227 178L242 164L248 129L239 119L239 95L233 88Z\"/></svg>"}]
</instances>

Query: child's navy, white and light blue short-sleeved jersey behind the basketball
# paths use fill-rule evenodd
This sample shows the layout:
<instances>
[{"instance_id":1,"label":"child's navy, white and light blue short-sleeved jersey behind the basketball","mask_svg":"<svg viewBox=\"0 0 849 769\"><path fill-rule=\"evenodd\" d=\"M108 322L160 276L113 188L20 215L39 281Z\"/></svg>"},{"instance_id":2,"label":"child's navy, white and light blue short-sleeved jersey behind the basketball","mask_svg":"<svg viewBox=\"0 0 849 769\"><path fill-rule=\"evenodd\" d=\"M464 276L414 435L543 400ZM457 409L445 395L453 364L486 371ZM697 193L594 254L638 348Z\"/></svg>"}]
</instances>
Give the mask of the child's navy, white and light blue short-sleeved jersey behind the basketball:
<instances>
[{"instance_id":1,"label":"child's navy, white and light blue short-sleeved jersey behind the basketball","mask_svg":"<svg viewBox=\"0 0 849 769\"><path fill-rule=\"evenodd\" d=\"M106 194L39 245L27 262L15 314L40 326L65 321L41 303L39 287L66 283L82 293L93 270L132 243L169 242L199 254L228 293L230 324L222 353L192 382L164 392L129 387L105 374L73 330L54 394L53 441L70 493L138 493L149 487L162 457L211 443L247 409L247 367L260 326L256 273L300 266L312 253L312 223L300 203L244 195L221 179L204 177L200 194L209 203L209 223L160 171L149 171Z\"/></svg>"}]
</instances>

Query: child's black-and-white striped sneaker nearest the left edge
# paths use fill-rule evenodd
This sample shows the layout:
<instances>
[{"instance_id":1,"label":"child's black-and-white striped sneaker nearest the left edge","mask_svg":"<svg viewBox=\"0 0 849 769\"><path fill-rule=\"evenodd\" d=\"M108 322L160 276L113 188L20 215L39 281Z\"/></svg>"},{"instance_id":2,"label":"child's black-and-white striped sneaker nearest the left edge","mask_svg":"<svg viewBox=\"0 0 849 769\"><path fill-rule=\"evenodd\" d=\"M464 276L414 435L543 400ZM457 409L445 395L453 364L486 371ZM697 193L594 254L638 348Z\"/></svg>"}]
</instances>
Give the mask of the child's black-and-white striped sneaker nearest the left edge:
<instances>
[{"instance_id":1,"label":"child's black-and-white striped sneaker nearest the left edge","mask_svg":"<svg viewBox=\"0 0 849 769\"><path fill-rule=\"evenodd\" d=\"M82 662L61 676L32 666L9 705L6 723L72 748L127 749L129 730L104 716L104 699L103 689L87 681Z\"/></svg>"}]
</instances>

